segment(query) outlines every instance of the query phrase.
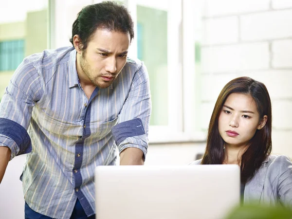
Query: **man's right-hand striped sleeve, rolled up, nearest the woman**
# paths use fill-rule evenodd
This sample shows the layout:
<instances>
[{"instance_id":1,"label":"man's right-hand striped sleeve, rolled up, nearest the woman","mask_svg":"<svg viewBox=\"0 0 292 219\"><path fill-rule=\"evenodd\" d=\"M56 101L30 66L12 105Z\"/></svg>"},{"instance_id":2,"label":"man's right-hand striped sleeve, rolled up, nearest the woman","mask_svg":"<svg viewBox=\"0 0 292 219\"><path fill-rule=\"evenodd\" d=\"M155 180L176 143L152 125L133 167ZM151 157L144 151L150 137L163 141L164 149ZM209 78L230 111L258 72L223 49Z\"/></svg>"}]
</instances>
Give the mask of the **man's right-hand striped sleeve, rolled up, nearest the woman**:
<instances>
[{"instance_id":1,"label":"man's right-hand striped sleeve, rolled up, nearest the woman","mask_svg":"<svg viewBox=\"0 0 292 219\"><path fill-rule=\"evenodd\" d=\"M146 158L148 128L151 115L149 77L144 64L135 72L131 89L119 114L119 122L111 131L121 153L128 147L143 151Z\"/></svg>"}]
</instances>

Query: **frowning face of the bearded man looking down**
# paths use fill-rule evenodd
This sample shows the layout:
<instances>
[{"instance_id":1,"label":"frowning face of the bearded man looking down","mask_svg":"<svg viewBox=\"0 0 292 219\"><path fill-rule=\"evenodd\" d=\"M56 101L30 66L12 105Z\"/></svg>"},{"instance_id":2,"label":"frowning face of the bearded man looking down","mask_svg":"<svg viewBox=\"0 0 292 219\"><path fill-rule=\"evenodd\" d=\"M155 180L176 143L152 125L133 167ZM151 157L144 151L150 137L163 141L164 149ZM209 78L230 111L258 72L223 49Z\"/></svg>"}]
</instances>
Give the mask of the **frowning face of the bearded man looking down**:
<instances>
[{"instance_id":1,"label":"frowning face of the bearded man looking down","mask_svg":"<svg viewBox=\"0 0 292 219\"><path fill-rule=\"evenodd\" d=\"M97 29L80 56L80 66L91 83L109 87L127 62L130 35Z\"/></svg>"}]
</instances>

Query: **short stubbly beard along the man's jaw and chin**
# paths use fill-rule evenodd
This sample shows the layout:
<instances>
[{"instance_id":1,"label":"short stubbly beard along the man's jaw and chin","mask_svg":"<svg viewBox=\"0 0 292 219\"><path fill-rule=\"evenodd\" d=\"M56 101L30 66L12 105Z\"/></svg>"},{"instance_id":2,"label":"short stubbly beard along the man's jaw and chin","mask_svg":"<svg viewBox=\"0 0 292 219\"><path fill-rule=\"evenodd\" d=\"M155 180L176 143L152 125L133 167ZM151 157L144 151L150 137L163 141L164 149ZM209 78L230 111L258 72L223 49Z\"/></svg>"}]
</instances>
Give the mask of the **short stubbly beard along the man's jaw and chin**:
<instances>
[{"instance_id":1,"label":"short stubbly beard along the man's jaw and chin","mask_svg":"<svg viewBox=\"0 0 292 219\"><path fill-rule=\"evenodd\" d=\"M98 75L98 74L96 76L91 75L91 73L93 73L94 71L89 66L89 64L88 64L88 62L87 62L87 60L85 58L85 53L82 53L82 55L80 56L80 67L81 67L82 71L88 76L88 78L90 79L91 83L93 85L99 87L99 88L108 88L114 81L114 79L113 79L113 80L111 80L109 82L99 83L97 81L97 79L101 75Z\"/></svg>"}]
</instances>

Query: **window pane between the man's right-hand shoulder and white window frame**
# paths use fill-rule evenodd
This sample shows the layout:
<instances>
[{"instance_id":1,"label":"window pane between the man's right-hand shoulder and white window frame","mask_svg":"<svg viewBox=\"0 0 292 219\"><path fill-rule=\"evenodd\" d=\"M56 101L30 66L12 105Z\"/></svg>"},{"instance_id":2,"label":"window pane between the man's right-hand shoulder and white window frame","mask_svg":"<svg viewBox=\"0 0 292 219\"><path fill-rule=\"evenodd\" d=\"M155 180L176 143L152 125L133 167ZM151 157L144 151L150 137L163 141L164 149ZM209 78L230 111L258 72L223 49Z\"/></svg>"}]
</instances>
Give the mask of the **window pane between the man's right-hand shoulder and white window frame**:
<instances>
[{"instance_id":1,"label":"window pane between the man's right-hand shoulder and white window frame","mask_svg":"<svg viewBox=\"0 0 292 219\"><path fill-rule=\"evenodd\" d=\"M168 124L167 11L137 5L137 52L150 78L150 125Z\"/></svg>"}]
</instances>

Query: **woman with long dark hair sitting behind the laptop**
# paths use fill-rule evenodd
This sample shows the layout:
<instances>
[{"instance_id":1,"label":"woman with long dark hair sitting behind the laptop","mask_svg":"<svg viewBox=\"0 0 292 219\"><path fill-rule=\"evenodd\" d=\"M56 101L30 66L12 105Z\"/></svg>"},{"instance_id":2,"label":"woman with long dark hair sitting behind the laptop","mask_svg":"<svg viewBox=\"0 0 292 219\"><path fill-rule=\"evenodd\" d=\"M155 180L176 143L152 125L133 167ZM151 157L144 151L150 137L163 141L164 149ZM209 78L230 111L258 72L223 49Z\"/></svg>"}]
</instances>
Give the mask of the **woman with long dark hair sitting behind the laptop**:
<instances>
[{"instance_id":1,"label":"woman with long dark hair sitting behind the laptop","mask_svg":"<svg viewBox=\"0 0 292 219\"><path fill-rule=\"evenodd\" d=\"M272 107L266 86L249 77L225 85L215 104L204 156L191 164L238 164L244 203L292 206L292 162L272 150Z\"/></svg>"}]
</instances>

